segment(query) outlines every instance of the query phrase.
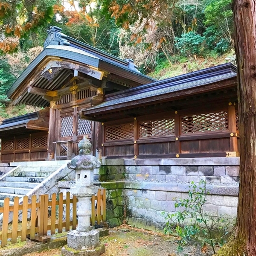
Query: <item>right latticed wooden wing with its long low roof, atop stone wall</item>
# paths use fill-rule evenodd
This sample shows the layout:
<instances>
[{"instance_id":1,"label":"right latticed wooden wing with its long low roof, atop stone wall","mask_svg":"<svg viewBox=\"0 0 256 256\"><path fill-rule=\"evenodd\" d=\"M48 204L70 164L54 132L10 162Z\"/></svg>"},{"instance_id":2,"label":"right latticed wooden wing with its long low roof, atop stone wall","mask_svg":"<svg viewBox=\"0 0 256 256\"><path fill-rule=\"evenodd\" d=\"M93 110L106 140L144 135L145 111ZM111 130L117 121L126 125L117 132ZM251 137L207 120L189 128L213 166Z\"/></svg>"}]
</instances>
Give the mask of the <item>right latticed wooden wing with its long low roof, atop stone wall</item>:
<instances>
[{"instance_id":1,"label":"right latticed wooden wing with its long low roof, atop stone wall","mask_svg":"<svg viewBox=\"0 0 256 256\"><path fill-rule=\"evenodd\" d=\"M108 158L236 157L236 67L227 63L111 93L84 118Z\"/></svg>"}]
</instances>

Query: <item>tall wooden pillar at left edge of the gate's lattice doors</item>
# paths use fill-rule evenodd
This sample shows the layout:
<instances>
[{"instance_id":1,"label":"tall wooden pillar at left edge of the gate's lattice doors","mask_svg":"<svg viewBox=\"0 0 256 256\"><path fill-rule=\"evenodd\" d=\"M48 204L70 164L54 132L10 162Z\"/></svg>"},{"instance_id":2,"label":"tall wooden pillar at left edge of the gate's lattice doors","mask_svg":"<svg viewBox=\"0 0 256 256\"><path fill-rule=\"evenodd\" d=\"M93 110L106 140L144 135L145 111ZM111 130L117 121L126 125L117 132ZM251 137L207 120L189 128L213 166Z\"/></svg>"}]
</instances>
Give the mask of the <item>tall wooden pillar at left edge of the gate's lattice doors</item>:
<instances>
[{"instance_id":1,"label":"tall wooden pillar at left edge of the gate's lattice doors","mask_svg":"<svg viewBox=\"0 0 256 256\"><path fill-rule=\"evenodd\" d=\"M49 109L49 131L48 131L48 157L47 160L54 159L55 154L55 133L57 130L57 123L56 123L56 111L54 109L55 101L50 102L50 109Z\"/></svg>"}]
</instances>

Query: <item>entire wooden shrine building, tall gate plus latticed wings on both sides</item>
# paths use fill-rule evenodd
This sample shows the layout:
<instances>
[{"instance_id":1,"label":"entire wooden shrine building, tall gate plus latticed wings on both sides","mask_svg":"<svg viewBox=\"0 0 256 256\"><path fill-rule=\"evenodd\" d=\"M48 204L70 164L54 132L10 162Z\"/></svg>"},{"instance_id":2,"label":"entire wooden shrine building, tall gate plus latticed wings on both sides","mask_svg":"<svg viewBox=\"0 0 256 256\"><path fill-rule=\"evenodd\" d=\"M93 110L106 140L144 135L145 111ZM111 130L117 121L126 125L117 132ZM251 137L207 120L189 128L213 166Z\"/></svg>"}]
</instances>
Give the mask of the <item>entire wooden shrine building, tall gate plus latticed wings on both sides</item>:
<instances>
[{"instance_id":1,"label":"entire wooden shrine building, tall gate plus latticed wings on both sides","mask_svg":"<svg viewBox=\"0 0 256 256\"><path fill-rule=\"evenodd\" d=\"M51 27L44 50L7 93L37 113L0 125L1 161L71 159L86 135L107 158L234 157L236 67L155 81Z\"/></svg>"}]
</instances>

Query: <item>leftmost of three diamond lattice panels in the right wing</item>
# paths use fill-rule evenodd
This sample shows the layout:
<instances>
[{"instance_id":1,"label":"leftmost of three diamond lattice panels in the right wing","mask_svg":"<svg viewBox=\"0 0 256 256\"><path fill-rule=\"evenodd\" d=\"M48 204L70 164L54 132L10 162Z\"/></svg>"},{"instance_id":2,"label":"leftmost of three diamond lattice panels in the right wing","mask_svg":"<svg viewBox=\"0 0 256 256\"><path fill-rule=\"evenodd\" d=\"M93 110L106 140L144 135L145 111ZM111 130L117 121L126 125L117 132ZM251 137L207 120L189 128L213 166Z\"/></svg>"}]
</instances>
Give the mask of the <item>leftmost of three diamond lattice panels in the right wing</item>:
<instances>
[{"instance_id":1,"label":"leftmost of three diamond lattice panels in the right wing","mask_svg":"<svg viewBox=\"0 0 256 256\"><path fill-rule=\"evenodd\" d=\"M106 126L106 141L134 138L134 124Z\"/></svg>"}]
</instances>

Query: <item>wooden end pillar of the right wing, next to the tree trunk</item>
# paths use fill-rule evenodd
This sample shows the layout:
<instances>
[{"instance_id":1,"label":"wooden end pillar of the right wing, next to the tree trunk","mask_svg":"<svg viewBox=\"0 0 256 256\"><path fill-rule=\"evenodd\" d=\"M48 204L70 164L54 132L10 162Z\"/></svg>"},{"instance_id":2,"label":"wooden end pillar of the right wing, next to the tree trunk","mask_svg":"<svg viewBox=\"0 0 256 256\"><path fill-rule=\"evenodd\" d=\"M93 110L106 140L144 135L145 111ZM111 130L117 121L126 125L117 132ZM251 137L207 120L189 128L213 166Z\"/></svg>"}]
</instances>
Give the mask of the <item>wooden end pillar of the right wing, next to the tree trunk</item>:
<instances>
[{"instance_id":1,"label":"wooden end pillar of the right wing, next to the tree trunk","mask_svg":"<svg viewBox=\"0 0 256 256\"><path fill-rule=\"evenodd\" d=\"M228 130L230 131L230 151L237 152L237 133L236 133L236 108L235 103L229 102L227 111Z\"/></svg>"}]
</instances>

